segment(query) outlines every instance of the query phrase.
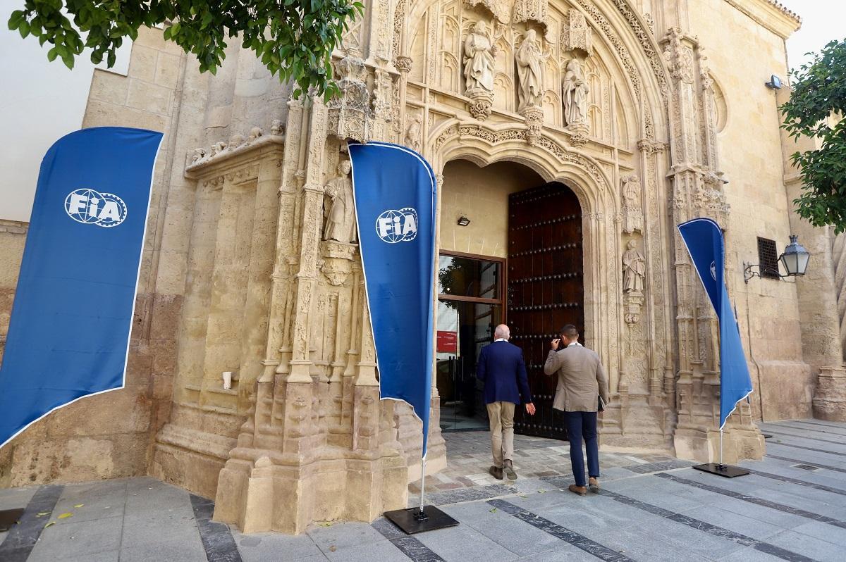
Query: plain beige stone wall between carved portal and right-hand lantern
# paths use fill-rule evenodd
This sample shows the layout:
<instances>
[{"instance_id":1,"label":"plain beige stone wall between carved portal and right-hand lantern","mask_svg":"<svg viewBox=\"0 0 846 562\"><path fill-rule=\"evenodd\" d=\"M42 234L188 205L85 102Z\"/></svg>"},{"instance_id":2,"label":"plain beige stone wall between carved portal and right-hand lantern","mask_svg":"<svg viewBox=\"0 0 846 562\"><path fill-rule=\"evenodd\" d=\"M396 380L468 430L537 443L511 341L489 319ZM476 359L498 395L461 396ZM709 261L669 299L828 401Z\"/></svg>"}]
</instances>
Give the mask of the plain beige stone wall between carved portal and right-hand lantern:
<instances>
[{"instance_id":1,"label":"plain beige stone wall between carved portal and right-hand lantern","mask_svg":"<svg viewBox=\"0 0 846 562\"><path fill-rule=\"evenodd\" d=\"M731 206L728 288L749 358L755 417L809 417L814 375L802 348L803 323L809 319L799 314L797 286L793 280L761 277L746 284L743 275L744 265L758 264L757 237L775 240L781 253L792 232L781 117L776 92L764 82L771 74L786 78L784 39L797 25L774 6L738 4L746 8L725 0L689 7L690 30L706 47L717 94L717 141Z\"/></svg>"}]
</instances>

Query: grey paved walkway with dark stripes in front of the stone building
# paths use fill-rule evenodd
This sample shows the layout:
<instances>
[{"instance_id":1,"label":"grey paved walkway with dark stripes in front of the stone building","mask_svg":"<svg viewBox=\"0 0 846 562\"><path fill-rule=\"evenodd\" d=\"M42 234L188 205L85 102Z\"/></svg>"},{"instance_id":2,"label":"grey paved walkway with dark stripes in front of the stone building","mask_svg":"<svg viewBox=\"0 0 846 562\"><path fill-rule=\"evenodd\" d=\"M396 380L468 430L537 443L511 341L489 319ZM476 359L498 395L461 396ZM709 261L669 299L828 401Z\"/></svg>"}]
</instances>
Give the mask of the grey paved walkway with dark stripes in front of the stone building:
<instances>
[{"instance_id":1,"label":"grey paved walkway with dark stripes in front of the stone building","mask_svg":"<svg viewBox=\"0 0 846 562\"><path fill-rule=\"evenodd\" d=\"M519 439L528 461L511 486L471 480L487 461L463 452L455 460L468 462L453 463L447 479L473 485L430 496L459 527L411 537L384 519L318 524L299 537L242 535L210 521L210 501L146 477L0 490L0 510L27 508L18 526L0 533L0 560L846 559L846 424L803 420L761 429L772 435L768 455L740 463L750 476L716 477L660 456L603 455L602 493L584 498L562 491L571 482L566 446L554 441ZM451 454L470 447L471 437L448 437ZM541 453L548 471L537 470ZM459 474L462 464L469 470Z\"/></svg>"}]
</instances>

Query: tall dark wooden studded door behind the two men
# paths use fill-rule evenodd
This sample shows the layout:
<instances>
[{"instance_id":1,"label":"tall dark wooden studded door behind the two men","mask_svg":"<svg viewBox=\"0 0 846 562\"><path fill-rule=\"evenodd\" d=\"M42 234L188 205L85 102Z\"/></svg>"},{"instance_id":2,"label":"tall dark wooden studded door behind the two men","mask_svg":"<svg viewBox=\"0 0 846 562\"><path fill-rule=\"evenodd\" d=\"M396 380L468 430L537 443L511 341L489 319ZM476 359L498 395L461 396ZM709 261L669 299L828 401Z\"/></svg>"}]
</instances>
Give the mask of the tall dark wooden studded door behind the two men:
<instances>
[{"instance_id":1,"label":"tall dark wooden studded door behind the two men","mask_svg":"<svg viewBox=\"0 0 846 562\"><path fill-rule=\"evenodd\" d=\"M534 416L520 408L514 429L566 439L552 410L558 379L543 374L543 363L563 325L585 328L581 207L567 186L547 183L508 197L507 267L511 341L523 349L537 408Z\"/></svg>"}]
</instances>

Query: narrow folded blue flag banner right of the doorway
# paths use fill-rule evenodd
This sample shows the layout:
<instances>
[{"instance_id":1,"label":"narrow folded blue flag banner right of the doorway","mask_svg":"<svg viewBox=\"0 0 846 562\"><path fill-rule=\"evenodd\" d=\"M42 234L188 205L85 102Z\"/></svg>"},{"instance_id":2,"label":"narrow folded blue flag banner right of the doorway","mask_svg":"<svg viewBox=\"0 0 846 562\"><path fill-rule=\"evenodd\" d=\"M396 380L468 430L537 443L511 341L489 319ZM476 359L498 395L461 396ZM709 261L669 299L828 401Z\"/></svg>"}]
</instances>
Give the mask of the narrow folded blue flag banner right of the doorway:
<instances>
[{"instance_id":1,"label":"narrow folded blue flag banner right of the doorway","mask_svg":"<svg viewBox=\"0 0 846 562\"><path fill-rule=\"evenodd\" d=\"M722 229L711 219L698 218L678 225L690 259L720 321L720 429L737 403L752 393L749 365L740 342L737 317L728 298L723 275L725 246Z\"/></svg>"}]
</instances>

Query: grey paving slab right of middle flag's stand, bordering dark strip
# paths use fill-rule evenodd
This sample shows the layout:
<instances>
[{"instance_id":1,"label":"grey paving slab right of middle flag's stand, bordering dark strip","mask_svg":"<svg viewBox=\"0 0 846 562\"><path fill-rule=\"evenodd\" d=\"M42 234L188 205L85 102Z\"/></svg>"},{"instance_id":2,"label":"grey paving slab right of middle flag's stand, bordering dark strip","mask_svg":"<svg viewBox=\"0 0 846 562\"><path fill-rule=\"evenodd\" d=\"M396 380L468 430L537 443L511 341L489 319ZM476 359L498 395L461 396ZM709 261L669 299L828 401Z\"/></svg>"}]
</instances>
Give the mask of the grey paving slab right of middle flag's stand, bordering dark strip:
<instances>
[{"instance_id":1,"label":"grey paving slab right of middle flag's stand, bordering dark strip","mask_svg":"<svg viewBox=\"0 0 846 562\"><path fill-rule=\"evenodd\" d=\"M514 554L538 554L554 548L561 541L547 532L519 521L487 503L453 505L444 508L449 515L472 527L493 542L507 548Z\"/></svg>"}]
</instances>

